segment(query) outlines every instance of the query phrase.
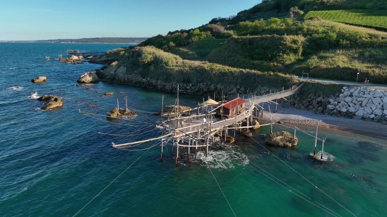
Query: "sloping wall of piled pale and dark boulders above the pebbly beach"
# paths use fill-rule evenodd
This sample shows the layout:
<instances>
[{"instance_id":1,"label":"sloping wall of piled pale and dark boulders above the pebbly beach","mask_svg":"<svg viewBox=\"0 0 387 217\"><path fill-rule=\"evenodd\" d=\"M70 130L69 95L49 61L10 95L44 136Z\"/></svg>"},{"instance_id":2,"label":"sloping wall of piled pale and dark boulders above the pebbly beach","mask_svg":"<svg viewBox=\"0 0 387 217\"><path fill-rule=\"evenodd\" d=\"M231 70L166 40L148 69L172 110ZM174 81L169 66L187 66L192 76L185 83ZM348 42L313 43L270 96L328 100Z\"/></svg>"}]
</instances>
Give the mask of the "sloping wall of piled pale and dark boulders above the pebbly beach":
<instances>
[{"instance_id":1,"label":"sloping wall of piled pale and dark boulders above the pebbly beach","mask_svg":"<svg viewBox=\"0 0 387 217\"><path fill-rule=\"evenodd\" d=\"M336 97L310 94L291 98L289 102L295 108L311 110L316 114L387 124L387 92L380 90L344 86Z\"/></svg>"}]
</instances>

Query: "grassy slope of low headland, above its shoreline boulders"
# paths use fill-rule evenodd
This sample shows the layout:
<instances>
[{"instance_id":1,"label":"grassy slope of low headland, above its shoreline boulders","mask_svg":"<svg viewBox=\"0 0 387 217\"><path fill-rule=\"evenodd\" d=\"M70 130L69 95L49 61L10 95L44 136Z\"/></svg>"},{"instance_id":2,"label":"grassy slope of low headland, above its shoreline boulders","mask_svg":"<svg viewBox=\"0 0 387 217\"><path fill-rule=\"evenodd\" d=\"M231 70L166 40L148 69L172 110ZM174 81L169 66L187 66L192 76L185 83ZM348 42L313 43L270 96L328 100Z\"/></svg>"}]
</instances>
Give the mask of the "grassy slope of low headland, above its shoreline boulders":
<instances>
[{"instance_id":1,"label":"grassy slope of low headland, above its shoreline boulders","mask_svg":"<svg viewBox=\"0 0 387 217\"><path fill-rule=\"evenodd\" d=\"M247 88L259 86L287 88L295 83L295 78L281 73L263 73L215 63L183 60L175 54L151 46L113 51L108 55L116 56L118 65L125 66L129 74L164 82L207 82L224 86L241 85Z\"/></svg>"}]
</instances>

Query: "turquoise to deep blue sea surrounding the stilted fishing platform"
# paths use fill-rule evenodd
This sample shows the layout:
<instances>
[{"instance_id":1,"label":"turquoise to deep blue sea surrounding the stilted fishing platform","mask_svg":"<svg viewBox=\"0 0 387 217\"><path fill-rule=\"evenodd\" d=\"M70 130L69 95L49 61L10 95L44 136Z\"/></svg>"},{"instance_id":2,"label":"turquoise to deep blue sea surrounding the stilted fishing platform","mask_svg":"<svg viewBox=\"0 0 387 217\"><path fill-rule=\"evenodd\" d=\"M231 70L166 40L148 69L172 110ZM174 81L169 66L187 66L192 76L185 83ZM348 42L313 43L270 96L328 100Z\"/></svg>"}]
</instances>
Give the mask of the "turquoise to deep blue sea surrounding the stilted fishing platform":
<instances>
[{"instance_id":1,"label":"turquoise to deep blue sea surrounding the stilted fishing platform","mask_svg":"<svg viewBox=\"0 0 387 217\"><path fill-rule=\"evenodd\" d=\"M319 129L333 159L326 162L310 158L314 139L300 131L296 147L267 146L260 134L270 127L254 131L262 146L238 136L235 144L210 148L205 163L175 166L170 146L164 147L163 161L158 145L145 154L113 148L111 142L162 135L152 126L158 117L140 113L108 122L78 110L106 114L117 98L123 106L127 97L128 107L155 112L163 95L165 104L174 103L176 95L102 82L75 86L80 74L102 65L54 58L67 48L122 46L128 45L0 43L0 216L387 216L387 142L379 137ZM47 76L48 82L31 83L36 76ZM20 90L9 89L15 86ZM63 107L42 111L43 103L30 98L33 92L63 97ZM98 96L104 92L114 95ZM180 100L194 106L202 97Z\"/></svg>"}]
</instances>

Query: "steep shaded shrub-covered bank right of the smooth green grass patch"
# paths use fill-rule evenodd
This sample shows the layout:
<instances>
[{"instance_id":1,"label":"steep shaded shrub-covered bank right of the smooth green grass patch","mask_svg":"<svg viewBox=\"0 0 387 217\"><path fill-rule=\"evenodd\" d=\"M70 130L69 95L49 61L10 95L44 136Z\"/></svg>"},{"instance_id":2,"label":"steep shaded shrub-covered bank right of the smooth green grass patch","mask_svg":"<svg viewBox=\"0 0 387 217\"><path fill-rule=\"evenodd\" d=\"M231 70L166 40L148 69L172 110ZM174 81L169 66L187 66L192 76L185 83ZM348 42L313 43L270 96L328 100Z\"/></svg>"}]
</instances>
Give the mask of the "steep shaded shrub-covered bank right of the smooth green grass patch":
<instances>
[{"instance_id":1,"label":"steep shaded shrub-covered bank right of the smooth green grass patch","mask_svg":"<svg viewBox=\"0 0 387 217\"><path fill-rule=\"evenodd\" d=\"M206 60L238 68L274 71L301 57L303 36L232 37Z\"/></svg>"}]
</instances>

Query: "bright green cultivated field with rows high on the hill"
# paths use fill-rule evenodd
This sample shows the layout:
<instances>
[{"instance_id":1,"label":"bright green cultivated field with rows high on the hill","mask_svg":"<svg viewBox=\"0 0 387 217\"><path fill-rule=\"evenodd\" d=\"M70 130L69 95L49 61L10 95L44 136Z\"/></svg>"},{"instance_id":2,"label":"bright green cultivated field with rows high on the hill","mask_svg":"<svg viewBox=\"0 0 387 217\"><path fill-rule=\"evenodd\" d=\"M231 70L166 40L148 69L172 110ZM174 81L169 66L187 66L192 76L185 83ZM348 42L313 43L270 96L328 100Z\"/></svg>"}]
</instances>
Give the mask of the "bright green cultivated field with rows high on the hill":
<instances>
[{"instance_id":1,"label":"bright green cultivated field with rows high on the hill","mask_svg":"<svg viewBox=\"0 0 387 217\"><path fill-rule=\"evenodd\" d=\"M312 10L305 15L325 20L387 30L387 10Z\"/></svg>"}]
</instances>

